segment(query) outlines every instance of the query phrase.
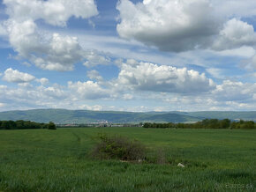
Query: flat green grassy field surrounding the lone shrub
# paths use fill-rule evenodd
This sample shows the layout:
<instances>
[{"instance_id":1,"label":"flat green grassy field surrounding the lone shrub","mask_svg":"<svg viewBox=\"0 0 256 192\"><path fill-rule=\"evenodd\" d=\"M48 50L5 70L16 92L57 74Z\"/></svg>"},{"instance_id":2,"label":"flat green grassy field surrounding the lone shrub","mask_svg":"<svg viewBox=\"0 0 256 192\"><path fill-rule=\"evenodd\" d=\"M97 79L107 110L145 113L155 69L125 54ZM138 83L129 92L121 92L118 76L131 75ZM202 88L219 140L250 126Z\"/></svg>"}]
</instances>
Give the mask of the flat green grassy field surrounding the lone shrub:
<instances>
[{"instance_id":1,"label":"flat green grassy field surrounding the lone shrub","mask_svg":"<svg viewBox=\"0 0 256 192\"><path fill-rule=\"evenodd\" d=\"M138 139L166 163L92 159L99 133ZM1 130L0 191L255 191L255 138L244 129Z\"/></svg>"}]
</instances>

